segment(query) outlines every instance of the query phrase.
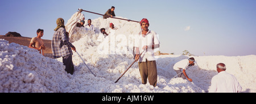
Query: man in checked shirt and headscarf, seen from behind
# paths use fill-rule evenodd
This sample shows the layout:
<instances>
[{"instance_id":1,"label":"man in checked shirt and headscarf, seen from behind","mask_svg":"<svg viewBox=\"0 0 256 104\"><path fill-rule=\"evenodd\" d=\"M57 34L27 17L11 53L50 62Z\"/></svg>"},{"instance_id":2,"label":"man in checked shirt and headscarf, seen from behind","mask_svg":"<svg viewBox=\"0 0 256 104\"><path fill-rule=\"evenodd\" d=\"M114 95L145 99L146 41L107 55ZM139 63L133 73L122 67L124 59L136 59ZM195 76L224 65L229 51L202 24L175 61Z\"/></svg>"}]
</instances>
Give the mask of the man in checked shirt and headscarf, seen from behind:
<instances>
[{"instance_id":1,"label":"man in checked shirt and headscarf, seen from behind","mask_svg":"<svg viewBox=\"0 0 256 104\"><path fill-rule=\"evenodd\" d=\"M52 38L52 54L54 58L63 58L65 71L73 75L74 64L72 62L72 50L76 51L76 47L69 42L69 37L66 34L64 20L57 19L57 27L54 29L55 33ZM72 49L72 50L71 50Z\"/></svg>"}]
</instances>

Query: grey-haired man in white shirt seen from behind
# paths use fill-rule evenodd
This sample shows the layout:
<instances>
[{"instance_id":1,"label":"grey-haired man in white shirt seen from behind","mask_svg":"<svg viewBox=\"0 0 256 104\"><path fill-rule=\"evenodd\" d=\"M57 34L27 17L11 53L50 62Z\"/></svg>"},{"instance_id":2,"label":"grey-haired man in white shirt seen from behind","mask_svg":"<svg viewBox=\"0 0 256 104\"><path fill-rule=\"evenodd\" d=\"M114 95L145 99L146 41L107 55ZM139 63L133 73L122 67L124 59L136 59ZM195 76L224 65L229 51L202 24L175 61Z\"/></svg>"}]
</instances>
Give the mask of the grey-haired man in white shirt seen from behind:
<instances>
[{"instance_id":1,"label":"grey-haired man in white shirt seen from behind","mask_svg":"<svg viewBox=\"0 0 256 104\"><path fill-rule=\"evenodd\" d=\"M217 64L218 74L212 77L209 93L238 93L242 87L235 76L226 72L224 63Z\"/></svg>"}]
</instances>

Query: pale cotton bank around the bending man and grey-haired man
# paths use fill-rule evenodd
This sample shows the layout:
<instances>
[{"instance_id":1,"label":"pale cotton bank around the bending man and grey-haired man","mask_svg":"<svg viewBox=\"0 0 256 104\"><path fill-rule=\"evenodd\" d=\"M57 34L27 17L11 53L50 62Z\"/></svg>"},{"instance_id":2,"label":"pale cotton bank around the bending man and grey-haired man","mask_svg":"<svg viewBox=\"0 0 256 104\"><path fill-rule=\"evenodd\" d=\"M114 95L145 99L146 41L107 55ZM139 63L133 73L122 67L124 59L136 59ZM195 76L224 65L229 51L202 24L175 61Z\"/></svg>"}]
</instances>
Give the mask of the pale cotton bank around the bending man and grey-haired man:
<instances>
[{"instance_id":1,"label":"pale cotton bank around the bending man and grey-haired man","mask_svg":"<svg viewBox=\"0 0 256 104\"><path fill-rule=\"evenodd\" d=\"M226 56L203 56L195 57L195 66L186 70L189 78L193 80L193 83L199 88L208 92L210 82L214 75L217 75L216 65L218 63L226 64L226 72L236 76L238 82L242 86L242 92L256 92L256 55L238 56L238 57L226 57ZM171 79L176 72L173 71L173 66L176 62L182 59L188 59L188 56L184 55L160 55L160 58L156 60L158 66L158 75L166 76ZM160 71L160 70L165 70ZM171 75L171 76L168 76Z\"/></svg>"}]
</instances>

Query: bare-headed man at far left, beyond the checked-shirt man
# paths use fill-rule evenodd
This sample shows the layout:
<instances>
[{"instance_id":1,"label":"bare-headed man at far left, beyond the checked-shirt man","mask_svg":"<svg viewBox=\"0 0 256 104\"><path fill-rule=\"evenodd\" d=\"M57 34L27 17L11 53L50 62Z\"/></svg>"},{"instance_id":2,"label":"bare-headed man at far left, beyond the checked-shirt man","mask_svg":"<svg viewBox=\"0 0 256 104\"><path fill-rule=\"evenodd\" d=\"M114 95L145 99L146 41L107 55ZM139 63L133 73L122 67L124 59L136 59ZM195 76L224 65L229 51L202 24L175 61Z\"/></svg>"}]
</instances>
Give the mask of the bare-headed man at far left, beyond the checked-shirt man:
<instances>
[{"instance_id":1,"label":"bare-headed man at far left, beyond the checked-shirt man","mask_svg":"<svg viewBox=\"0 0 256 104\"><path fill-rule=\"evenodd\" d=\"M44 50L46 49L46 47L44 46L44 42L41 38L44 35L44 30L38 29L36 31L36 34L38 34L38 36L31 38L30 45L28 47L30 47L31 49L36 49L39 51L40 54L44 55Z\"/></svg>"}]
</instances>

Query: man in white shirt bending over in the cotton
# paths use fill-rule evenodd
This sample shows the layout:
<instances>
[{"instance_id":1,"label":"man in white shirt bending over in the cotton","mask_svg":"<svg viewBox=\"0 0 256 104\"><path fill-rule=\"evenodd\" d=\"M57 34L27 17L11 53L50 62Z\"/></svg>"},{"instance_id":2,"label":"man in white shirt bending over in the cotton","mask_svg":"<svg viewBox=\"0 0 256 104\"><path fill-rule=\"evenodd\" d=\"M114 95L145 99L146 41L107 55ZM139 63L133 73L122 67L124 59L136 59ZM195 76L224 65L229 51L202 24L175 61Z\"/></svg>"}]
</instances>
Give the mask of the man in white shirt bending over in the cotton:
<instances>
[{"instance_id":1,"label":"man in white shirt bending over in the cotton","mask_svg":"<svg viewBox=\"0 0 256 104\"><path fill-rule=\"evenodd\" d=\"M179 74L177 75L177 77L182 77L183 79L187 79L189 81L192 81L192 79L189 79L187 73L185 70L188 70L188 68L191 68L192 66L195 65L195 59L193 57L189 58L189 59L183 59L183 60L180 60L179 62L175 63L174 64L174 71ZM183 70L183 71L181 71ZM182 73L180 73L182 72Z\"/></svg>"}]
</instances>

